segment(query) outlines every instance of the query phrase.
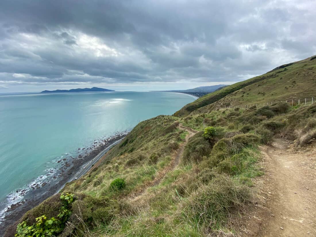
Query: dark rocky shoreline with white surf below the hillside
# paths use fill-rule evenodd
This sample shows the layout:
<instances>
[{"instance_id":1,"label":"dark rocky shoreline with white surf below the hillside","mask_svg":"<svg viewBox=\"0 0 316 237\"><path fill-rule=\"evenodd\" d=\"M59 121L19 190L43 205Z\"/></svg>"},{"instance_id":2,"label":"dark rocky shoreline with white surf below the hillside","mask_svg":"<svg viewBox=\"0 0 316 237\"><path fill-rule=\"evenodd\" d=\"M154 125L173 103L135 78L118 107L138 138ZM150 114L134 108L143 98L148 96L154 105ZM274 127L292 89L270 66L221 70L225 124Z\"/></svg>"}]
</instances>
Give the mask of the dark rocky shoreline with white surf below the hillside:
<instances>
[{"instance_id":1,"label":"dark rocky shoreline with white surf below the hillside","mask_svg":"<svg viewBox=\"0 0 316 237\"><path fill-rule=\"evenodd\" d=\"M46 169L45 175L39 176L25 188L9 194L8 197L12 196L10 200L13 202L16 200L16 203L8 205L1 212L3 219L0 219L0 236L3 236L5 230L18 221L24 213L58 192L73 179L73 176L80 171L82 166L93 160L96 155L112 143L125 137L127 133L128 131L116 132L111 137L95 140L89 147L78 148L76 156L61 157L54 161L57 163L57 167Z\"/></svg>"}]
</instances>

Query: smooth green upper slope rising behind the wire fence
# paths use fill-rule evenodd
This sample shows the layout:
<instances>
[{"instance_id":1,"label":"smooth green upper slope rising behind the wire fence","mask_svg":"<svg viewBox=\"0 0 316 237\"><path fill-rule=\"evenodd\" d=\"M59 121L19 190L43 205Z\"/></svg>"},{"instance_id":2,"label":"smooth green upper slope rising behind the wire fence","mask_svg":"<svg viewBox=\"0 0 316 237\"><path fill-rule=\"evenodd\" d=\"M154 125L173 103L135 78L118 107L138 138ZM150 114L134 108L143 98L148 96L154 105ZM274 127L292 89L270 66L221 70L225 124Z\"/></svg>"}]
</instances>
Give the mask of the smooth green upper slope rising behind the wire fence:
<instances>
[{"instance_id":1,"label":"smooth green upper slope rising behind the wire fence","mask_svg":"<svg viewBox=\"0 0 316 237\"><path fill-rule=\"evenodd\" d=\"M311 96L316 96L315 56L292 64L285 64L261 76L207 94L187 104L175 112L174 116L185 117L193 111L198 114L210 111L215 107L230 105L262 104L292 99L302 101L306 97L310 99ZM204 106L208 107L197 110Z\"/></svg>"}]
</instances>

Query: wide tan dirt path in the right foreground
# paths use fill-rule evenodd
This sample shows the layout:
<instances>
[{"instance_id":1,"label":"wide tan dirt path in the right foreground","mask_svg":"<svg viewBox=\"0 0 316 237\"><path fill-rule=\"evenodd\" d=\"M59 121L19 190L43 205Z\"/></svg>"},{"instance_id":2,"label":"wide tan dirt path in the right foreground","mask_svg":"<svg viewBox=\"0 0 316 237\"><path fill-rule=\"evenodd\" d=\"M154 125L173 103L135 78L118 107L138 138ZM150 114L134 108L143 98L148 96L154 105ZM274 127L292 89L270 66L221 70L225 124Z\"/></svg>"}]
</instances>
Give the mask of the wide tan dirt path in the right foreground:
<instances>
[{"instance_id":1,"label":"wide tan dirt path in the right foreground","mask_svg":"<svg viewBox=\"0 0 316 237\"><path fill-rule=\"evenodd\" d=\"M316 146L289 145L276 139L262 148L265 175L256 179L258 209L244 236L316 237Z\"/></svg>"}]
</instances>

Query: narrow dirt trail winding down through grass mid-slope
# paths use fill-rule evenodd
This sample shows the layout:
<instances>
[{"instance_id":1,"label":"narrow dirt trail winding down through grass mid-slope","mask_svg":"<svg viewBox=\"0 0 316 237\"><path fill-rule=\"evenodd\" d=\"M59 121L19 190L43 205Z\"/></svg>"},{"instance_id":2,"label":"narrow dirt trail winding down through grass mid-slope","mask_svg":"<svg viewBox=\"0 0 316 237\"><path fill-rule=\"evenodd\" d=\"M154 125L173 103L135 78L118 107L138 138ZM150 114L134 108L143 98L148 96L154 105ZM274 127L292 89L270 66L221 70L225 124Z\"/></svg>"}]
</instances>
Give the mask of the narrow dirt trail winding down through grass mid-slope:
<instances>
[{"instance_id":1,"label":"narrow dirt trail winding down through grass mid-slope","mask_svg":"<svg viewBox=\"0 0 316 237\"><path fill-rule=\"evenodd\" d=\"M193 137L194 134L196 134L198 132L198 131L195 131L191 128L185 127L181 124L179 125L179 129L185 130L189 134L186 135L185 141L183 143L181 143L180 147L172 155L172 160L171 160L170 164L168 166L166 166L162 171L160 171L156 175L155 179L152 180L149 184L147 184L146 187L144 187L141 191L134 193L133 196L131 197L131 201L136 201L137 199L142 197L150 187L153 187L153 186L160 184L161 180L166 176L166 174L168 172L173 171L176 167L178 167L178 165L181 161L183 152L184 152L185 145L188 143L189 139L191 137Z\"/></svg>"}]
</instances>

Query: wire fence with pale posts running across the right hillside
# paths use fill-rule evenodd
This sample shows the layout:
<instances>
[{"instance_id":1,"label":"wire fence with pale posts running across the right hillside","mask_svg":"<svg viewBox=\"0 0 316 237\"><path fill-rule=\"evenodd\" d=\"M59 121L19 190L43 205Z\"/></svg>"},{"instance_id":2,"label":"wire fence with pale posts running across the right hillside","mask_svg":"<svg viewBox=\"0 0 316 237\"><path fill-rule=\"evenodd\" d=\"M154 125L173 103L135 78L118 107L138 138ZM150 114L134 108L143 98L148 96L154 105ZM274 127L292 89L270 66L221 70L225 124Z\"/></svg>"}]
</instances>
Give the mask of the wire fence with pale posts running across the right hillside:
<instances>
[{"instance_id":1,"label":"wire fence with pale posts running across the right hillside","mask_svg":"<svg viewBox=\"0 0 316 237\"><path fill-rule=\"evenodd\" d=\"M229 105L229 106L224 106L222 109L234 109L234 108L242 108L242 109L247 109L253 106L256 106L258 108L263 107L263 106L271 106L276 103L280 102L285 102L291 106L302 106L302 105L312 105L315 103L314 97L310 98L304 98L303 100L301 99L291 99L291 100L281 100L281 101L271 101L271 102L262 102L262 103L249 103L249 104L241 104L241 105Z\"/></svg>"}]
</instances>

